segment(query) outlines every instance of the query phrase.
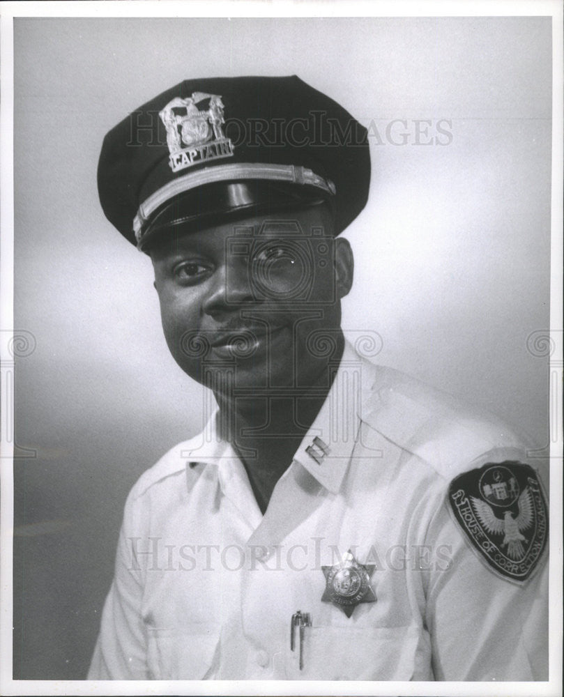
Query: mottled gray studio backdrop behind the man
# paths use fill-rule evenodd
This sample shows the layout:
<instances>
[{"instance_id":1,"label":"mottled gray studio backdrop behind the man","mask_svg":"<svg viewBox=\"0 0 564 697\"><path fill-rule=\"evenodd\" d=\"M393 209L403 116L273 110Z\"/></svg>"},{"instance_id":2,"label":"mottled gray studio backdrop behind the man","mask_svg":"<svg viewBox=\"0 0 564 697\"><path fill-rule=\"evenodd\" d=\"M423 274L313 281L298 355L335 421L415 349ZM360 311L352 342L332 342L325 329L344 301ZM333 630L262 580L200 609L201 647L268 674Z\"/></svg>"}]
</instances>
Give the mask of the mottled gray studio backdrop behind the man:
<instances>
[{"instance_id":1,"label":"mottled gray studio backdrop behind the man","mask_svg":"<svg viewBox=\"0 0 564 697\"><path fill-rule=\"evenodd\" d=\"M84 677L125 496L201 427L150 262L98 204L105 132L185 78L295 73L331 95L373 158L344 328L542 447L550 22L15 20L15 678Z\"/></svg>"}]
</instances>

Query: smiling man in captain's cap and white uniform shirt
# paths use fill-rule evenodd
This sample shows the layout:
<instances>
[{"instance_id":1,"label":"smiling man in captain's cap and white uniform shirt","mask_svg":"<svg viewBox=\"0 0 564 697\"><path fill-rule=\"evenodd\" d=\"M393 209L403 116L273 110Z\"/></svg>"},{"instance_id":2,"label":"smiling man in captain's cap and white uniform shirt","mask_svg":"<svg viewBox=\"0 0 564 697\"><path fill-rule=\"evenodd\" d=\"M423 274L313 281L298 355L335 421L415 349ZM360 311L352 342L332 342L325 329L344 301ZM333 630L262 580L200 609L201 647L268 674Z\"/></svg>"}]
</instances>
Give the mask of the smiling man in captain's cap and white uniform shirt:
<instances>
[{"instance_id":1,"label":"smiling man in captain's cap and white uniform shirt","mask_svg":"<svg viewBox=\"0 0 564 697\"><path fill-rule=\"evenodd\" d=\"M102 207L217 404L130 493L91 679L547 679L524 444L340 329L369 167L297 77L186 81L107 135Z\"/></svg>"}]
</instances>

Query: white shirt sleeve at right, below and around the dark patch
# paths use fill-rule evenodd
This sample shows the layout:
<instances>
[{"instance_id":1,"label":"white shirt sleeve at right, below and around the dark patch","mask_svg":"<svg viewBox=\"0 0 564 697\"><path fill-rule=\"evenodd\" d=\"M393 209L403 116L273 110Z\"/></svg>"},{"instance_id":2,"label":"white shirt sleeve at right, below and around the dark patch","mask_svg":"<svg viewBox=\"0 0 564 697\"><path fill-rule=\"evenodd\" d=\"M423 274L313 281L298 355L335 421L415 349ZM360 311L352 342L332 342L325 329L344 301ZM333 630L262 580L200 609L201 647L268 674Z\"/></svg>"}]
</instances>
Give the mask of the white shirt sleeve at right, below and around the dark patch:
<instances>
[{"instance_id":1,"label":"white shirt sleeve at right, below and around the dark patch","mask_svg":"<svg viewBox=\"0 0 564 697\"><path fill-rule=\"evenodd\" d=\"M548 680L547 560L517 585L490 569L465 535L444 502L427 530L444 560L427 587L435 679Z\"/></svg>"}]
</instances>

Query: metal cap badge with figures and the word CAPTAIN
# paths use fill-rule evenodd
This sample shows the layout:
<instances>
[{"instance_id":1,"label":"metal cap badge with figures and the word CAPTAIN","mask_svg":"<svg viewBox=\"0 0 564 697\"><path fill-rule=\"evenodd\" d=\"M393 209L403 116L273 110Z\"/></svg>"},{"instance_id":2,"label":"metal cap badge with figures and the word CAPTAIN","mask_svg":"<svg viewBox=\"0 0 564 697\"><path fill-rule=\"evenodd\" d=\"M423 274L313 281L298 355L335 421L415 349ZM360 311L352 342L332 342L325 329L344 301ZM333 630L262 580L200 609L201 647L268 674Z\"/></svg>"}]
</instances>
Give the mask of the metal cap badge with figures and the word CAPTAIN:
<instances>
[{"instance_id":1,"label":"metal cap badge with figures and the word CAPTAIN","mask_svg":"<svg viewBox=\"0 0 564 697\"><path fill-rule=\"evenodd\" d=\"M223 109L219 95L194 92L185 99L175 97L159 112L167 129L172 171L233 157L233 143L221 128L225 123Z\"/></svg>"}]
</instances>

